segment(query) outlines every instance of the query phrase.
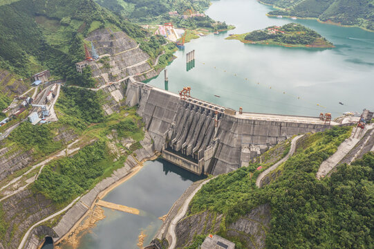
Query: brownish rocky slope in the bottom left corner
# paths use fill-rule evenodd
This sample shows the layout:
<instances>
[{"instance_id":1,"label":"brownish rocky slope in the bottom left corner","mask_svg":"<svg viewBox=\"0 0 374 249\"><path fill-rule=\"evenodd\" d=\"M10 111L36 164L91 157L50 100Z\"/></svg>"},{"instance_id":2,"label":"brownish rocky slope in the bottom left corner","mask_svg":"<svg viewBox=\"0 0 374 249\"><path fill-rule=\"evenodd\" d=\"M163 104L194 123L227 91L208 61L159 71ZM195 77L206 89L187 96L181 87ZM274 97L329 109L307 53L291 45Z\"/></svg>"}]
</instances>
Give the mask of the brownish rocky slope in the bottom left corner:
<instances>
[{"instance_id":1,"label":"brownish rocky slope in the bottom left corner","mask_svg":"<svg viewBox=\"0 0 374 249\"><path fill-rule=\"evenodd\" d=\"M32 224L57 211L51 200L42 194L33 193L32 190L23 190L1 204L5 221L9 224L3 241L0 241L6 248L17 248L24 233ZM41 234L44 230L37 228L35 234ZM53 234L50 230L47 232Z\"/></svg>"}]
</instances>

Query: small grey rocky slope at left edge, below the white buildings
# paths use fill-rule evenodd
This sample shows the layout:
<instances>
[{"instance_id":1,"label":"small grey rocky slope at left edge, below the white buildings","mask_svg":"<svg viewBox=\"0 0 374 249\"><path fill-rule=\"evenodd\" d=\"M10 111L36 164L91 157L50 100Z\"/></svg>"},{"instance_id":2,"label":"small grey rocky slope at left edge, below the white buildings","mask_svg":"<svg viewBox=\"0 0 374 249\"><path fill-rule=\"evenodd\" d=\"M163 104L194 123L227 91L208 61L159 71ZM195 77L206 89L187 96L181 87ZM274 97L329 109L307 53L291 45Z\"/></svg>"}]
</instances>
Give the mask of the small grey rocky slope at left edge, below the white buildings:
<instances>
[{"instance_id":1,"label":"small grey rocky slope at left edge, below the white buildings","mask_svg":"<svg viewBox=\"0 0 374 249\"><path fill-rule=\"evenodd\" d=\"M29 151L11 150L12 147L0 149L0 181L34 160L31 149Z\"/></svg>"}]
</instances>

